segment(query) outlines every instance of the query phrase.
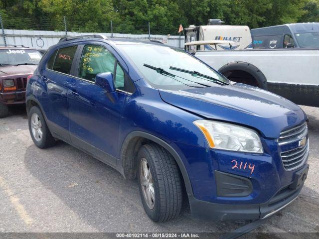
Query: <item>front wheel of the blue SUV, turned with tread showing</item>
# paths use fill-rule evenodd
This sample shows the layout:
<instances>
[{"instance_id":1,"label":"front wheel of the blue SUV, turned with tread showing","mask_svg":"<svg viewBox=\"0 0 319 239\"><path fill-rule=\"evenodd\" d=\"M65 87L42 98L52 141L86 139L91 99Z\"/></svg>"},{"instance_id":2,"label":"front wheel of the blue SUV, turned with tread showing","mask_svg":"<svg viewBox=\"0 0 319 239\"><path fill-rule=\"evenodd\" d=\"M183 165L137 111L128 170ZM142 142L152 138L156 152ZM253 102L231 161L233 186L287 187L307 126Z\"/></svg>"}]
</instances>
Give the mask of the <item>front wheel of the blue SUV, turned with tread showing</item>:
<instances>
[{"instance_id":1,"label":"front wheel of the blue SUV, turned with tread showing","mask_svg":"<svg viewBox=\"0 0 319 239\"><path fill-rule=\"evenodd\" d=\"M143 165L151 173L149 181L145 180ZM182 183L174 158L158 144L145 144L138 152L137 174L142 204L149 218L154 222L176 218L182 205ZM151 201L148 201L146 192L152 191L152 185L154 200L151 196Z\"/></svg>"}]
</instances>

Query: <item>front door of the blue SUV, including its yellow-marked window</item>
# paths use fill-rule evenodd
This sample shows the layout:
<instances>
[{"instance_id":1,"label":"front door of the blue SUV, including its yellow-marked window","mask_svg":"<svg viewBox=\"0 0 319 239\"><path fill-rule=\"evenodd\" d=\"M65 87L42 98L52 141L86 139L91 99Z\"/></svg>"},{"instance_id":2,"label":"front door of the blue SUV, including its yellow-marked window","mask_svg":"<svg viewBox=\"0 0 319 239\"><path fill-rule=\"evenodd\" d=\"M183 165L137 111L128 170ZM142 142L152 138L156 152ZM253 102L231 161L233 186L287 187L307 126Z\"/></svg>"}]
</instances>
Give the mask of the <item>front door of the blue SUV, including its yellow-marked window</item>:
<instances>
[{"instance_id":1,"label":"front door of the blue SUV, including its yellow-marked window","mask_svg":"<svg viewBox=\"0 0 319 239\"><path fill-rule=\"evenodd\" d=\"M79 67L71 84L69 130L72 142L102 161L116 166L121 112L129 94L117 92L117 100L95 84L98 73L112 72L116 88L124 88L125 74L115 56L104 46L82 46Z\"/></svg>"}]
</instances>

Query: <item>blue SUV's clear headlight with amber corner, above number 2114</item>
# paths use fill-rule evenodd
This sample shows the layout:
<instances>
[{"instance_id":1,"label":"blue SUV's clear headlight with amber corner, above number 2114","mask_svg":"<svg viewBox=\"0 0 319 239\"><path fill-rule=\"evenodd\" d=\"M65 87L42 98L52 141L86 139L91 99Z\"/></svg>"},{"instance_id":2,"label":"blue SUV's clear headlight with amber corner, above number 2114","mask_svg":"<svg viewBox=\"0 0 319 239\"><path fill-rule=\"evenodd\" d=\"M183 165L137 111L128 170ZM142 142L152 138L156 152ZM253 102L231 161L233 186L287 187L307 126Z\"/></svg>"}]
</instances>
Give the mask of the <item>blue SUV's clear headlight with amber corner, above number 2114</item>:
<instances>
[{"instance_id":1,"label":"blue SUV's clear headlight with amber corner, above number 2114","mask_svg":"<svg viewBox=\"0 0 319 239\"><path fill-rule=\"evenodd\" d=\"M212 120L196 120L211 148L240 152L263 153L263 146L256 131L230 123Z\"/></svg>"}]
</instances>

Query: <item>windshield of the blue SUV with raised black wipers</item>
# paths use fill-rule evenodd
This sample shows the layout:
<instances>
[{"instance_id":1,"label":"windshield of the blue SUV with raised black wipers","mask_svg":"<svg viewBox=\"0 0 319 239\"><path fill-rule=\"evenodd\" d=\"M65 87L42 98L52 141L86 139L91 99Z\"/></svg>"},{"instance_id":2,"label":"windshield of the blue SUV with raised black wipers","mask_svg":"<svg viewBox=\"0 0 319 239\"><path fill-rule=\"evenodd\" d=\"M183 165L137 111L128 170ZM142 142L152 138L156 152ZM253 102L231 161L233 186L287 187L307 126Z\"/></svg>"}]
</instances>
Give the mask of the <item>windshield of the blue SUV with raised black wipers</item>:
<instances>
[{"instance_id":1,"label":"windshield of the blue SUV with raised black wipers","mask_svg":"<svg viewBox=\"0 0 319 239\"><path fill-rule=\"evenodd\" d=\"M150 85L157 89L184 90L220 85L216 83L216 80L209 80L198 74L192 75L187 72L172 70L170 67L196 71L225 83L230 82L221 74L210 69L181 49L146 44L123 44L118 45L118 47L123 49L128 57L131 58ZM160 68L160 71L146 67L145 64L154 68ZM163 74L163 71L166 74ZM175 77L167 75L167 73L175 75Z\"/></svg>"}]
</instances>

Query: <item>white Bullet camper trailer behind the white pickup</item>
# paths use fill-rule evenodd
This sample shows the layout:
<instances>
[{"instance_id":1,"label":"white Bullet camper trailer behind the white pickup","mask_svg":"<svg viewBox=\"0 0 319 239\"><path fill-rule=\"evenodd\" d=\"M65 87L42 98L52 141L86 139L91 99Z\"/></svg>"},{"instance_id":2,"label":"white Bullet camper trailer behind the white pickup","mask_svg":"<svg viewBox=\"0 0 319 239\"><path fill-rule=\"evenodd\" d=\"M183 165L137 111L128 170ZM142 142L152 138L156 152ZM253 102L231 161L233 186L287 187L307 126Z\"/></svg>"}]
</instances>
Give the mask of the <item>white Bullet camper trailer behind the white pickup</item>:
<instances>
[{"instance_id":1,"label":"white Bullet camper trailer behind the white pickup","mask_svg":"<svg viewBox=\"0 0 319 239\"><path fill-rule=\"evenodd\" d=\"M209 19L204 26L190 25L185 28L186 42L224 40L235 42L231 47L229 44L218 44L217 49L211 45L192 46L191 51L197 50L243 50L252 46L252 38L248 26L221 25L223 21L219 19Z\"/></svg>"}]
</instances>

